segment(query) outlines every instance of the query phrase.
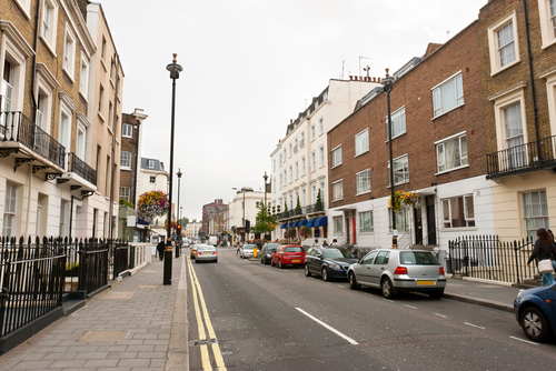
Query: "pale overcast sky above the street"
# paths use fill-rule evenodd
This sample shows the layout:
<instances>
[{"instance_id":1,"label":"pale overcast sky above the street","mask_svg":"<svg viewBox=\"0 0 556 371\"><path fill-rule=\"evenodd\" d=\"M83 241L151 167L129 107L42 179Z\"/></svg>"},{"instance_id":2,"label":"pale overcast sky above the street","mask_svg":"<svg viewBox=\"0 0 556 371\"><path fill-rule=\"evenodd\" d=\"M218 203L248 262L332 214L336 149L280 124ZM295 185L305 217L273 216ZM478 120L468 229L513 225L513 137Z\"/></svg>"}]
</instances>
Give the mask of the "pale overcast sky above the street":
<instances>
[{"instance_id":1,"label":"pale overcast sky above the street","mask_svg":"<svg viewBox=\"0 0 556 371\"><path fill-rule=\"evenodd\" d=\"M330 79L384 77L429 42L444 43L487 0L106 0L99 1L123 72L123 112L145 110L141 157L170 170L172 53L173 173L182 217L262 190L270 153ZM173 202L178 179L173 177Z\"/></svg>"}]
</instances>

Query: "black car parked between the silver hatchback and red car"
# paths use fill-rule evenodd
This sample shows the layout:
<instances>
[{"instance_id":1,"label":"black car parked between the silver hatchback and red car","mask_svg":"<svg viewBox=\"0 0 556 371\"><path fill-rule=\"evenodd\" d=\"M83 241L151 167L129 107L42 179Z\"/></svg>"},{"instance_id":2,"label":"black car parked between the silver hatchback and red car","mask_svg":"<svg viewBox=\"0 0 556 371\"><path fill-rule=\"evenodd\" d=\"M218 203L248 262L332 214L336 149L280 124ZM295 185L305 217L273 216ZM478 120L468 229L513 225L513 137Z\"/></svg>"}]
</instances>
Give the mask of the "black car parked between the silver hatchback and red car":
<instances>
[{"instance_id":1,"label":"black car parked between the silver hatchback and red car","mask_svg":"<svg viewBox=\"0 0 556 371\"><path fill-rule=\"evenodd\" d=\"M331 279L347 279L349 267L357 262L357 258L348 251L336 248L310 248L305 255L305 275L320 274L322 281Z\"/></svg>"}]
</instances>

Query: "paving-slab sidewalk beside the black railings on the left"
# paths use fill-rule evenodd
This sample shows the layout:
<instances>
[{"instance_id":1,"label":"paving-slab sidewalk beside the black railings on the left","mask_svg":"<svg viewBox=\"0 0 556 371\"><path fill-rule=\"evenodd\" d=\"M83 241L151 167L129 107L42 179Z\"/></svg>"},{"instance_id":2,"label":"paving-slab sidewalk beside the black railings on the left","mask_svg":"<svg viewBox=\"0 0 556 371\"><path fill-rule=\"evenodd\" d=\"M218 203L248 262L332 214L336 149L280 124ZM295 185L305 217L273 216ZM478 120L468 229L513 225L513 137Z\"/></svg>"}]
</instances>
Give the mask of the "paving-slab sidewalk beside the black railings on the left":
<instances>
[{"instance_id":1,"label":"paving-slab sidewalk beside the black railings on the left","mask_svg":"<svg viewBox=\"0 0 556 371\"><path fill-rule=\"evenodd\" d=\"M163 263L153 260L2 355L0 370L165 370L182 262L173 259L163 285Z\"/></svg>"}]
</instances>

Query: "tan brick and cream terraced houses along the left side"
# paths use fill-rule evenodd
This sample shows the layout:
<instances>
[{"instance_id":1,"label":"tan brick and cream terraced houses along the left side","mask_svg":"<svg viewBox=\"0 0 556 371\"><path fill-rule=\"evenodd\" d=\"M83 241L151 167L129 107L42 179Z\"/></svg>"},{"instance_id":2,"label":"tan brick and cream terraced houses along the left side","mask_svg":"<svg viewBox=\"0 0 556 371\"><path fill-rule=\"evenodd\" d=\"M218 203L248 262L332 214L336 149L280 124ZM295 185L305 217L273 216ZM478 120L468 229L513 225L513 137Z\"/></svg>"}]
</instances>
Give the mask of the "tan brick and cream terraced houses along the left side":
<instances>
[{"instance_id":1,"label":"tan brick and cream terraced houses along the left side","mask_svg":"<svg viewBox=\"0 0 556 371\"><path fill-rule=\"evenodd\" d=\"M123 73L101 7L3 1L0 46L1 235L109 237Z\"/></svg>"}]
</instances>

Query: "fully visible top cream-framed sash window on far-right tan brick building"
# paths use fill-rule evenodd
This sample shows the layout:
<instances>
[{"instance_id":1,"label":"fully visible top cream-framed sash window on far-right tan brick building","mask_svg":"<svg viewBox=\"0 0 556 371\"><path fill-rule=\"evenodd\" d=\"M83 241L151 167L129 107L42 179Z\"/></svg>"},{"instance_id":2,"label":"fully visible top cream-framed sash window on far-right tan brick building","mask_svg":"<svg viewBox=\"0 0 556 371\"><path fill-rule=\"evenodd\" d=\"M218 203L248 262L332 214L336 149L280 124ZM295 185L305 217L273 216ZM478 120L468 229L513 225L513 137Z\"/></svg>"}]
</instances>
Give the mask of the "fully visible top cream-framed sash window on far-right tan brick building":
<instances>
[{"instance_id":1,"label":"fully visible top cream-framed sash window on far-right tan brick building","mask_svg":"<svg viewBox=\"0 0 556 371\"><path fill-rule=\"evenodd\" d=\"M496 74L519 62L517 17L513 11L488 28L490 74Z\"/></svg>"}]
</instances>

